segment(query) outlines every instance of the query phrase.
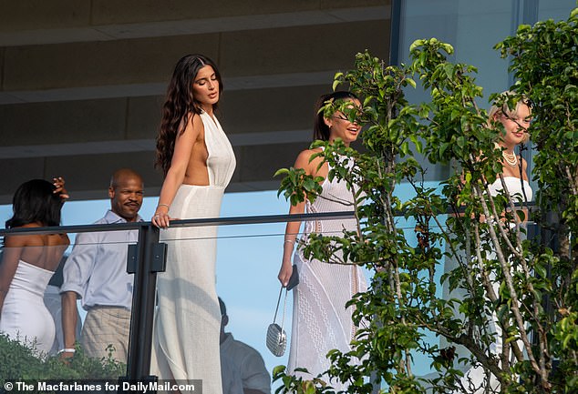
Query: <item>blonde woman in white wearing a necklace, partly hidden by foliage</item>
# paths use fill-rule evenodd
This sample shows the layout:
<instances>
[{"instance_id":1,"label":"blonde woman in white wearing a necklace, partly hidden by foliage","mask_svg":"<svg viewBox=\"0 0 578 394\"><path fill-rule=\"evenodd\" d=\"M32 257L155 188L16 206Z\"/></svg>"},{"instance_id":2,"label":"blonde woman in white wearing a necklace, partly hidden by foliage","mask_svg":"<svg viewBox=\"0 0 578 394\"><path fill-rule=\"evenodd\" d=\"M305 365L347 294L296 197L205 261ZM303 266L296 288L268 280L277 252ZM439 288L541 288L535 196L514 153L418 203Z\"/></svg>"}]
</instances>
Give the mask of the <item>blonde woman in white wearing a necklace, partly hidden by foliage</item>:
<instances>
[{"instance_id":1,"label":"blonde woman in white wearing a necklace, partly hidden by foliage","mask_svg":"<svg viewBox=\"0 0 578 394\"><path fill-rule=\"evenodd\" d=\"M507 95L508 92L504 92L503 95ZM502 178L503 184L505 185L508 194L511 196L515 203L526 204L532 201L533 193L532 187L528 181L527 163L526 161L517 156L514 152L514 148L525 143L529 139L528 127L530 126L531 109L530 106L522 99L519 101L515 108L510 109L508 106L497 107L492 106L488 114L490 121L500 122L504 128L505 134L501 136L499 145L503 148L502 151ZM498 177L493 183L488 185L490 194L493 197L498 196L503 192L504 187L501 182L501 178ZM528 219L528 212L522 209L526 215L525 219ZM490 257L489 257L490 258ZM497 281L492 282L493 288L496 294L499 293L500 283ZM490 331L495 333L495 340L490 347L490 351L493 354L499 355L502 351L502 330L499 324L497 324L497 316L492 317L489 321ZM521 345L521 344L520 344ZM478 389L473 391L474 393L485 392L482 387L482 383L485 379L484 370L478 366L476 368L471 368L465 372L464 378L462 378L462 384L465 387L473 383ZM491 375L490 376L490 387L493 390L500 389L500 383L498 379Z\"/></svg>"}]
</instances>

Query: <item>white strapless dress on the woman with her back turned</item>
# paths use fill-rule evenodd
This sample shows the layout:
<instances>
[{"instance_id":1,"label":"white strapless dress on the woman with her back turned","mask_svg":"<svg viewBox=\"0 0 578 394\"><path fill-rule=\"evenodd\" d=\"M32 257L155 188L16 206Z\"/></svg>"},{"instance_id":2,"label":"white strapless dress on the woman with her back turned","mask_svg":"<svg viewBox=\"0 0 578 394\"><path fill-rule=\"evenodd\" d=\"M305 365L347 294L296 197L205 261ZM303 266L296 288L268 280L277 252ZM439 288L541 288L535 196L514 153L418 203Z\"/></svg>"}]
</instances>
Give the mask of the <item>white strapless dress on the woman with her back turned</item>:
<instances>
[{"instance_id":1,"label":"white strapless dress on the woman with her back turned","mask_svg":"<svg viewBox=\"0 0 578 394\"><path fill-rule=\"evenodd\" d=\"M47 354L55 338L52 315L44 305L44 292L54 272L20 260L6 293L0 332Z\"/></svg>"}]
</instances>

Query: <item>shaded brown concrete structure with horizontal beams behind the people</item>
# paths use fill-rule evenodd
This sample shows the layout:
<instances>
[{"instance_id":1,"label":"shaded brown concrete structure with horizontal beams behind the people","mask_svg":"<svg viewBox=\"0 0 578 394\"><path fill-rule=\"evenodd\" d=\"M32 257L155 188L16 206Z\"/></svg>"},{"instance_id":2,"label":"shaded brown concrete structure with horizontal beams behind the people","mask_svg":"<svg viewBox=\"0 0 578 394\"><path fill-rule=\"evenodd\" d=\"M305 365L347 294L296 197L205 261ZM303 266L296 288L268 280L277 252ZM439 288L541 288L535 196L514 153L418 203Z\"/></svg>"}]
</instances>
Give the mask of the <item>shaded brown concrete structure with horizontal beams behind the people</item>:
<instances>
[{"instance_id":1,"label":"shaded brown concrete structure with horizontal beams behind the people","mask_svg":"<svg viewBox=\"0 0 578 394\"><path fill-rule=\"evenodd\" d=\"M229 190L278 186L311 139L313 104L336 71L369 49L387 58L390 0L3 2L0 203L31 177L62 175L73 199L105 197L133 167L147 195L160 106L174 63L211 56L225 91L220 120L238 167Z\"/></svg>"}]
</instances>

